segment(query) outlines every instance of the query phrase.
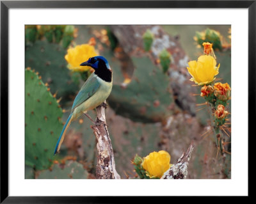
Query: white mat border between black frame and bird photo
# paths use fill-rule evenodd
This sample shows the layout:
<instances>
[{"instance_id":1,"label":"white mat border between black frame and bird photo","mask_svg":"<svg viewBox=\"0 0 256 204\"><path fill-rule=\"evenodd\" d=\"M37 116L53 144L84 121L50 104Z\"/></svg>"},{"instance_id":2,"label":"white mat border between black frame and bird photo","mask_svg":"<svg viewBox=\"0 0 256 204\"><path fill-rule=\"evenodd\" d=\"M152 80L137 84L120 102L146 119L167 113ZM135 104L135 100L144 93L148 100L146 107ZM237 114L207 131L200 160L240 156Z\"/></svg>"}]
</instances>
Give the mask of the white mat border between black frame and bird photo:
<instances>
[{"instance_id":1,"label":"white mat border between black frame and bird photo","mask_svg":"<svg viewBox=\"0 0 256 204\"><path fill-rule=\"evenodd\" d=\"M248 195L248 9L10 9L9 17L10 196ZM231 24L232 179L25 180L24 24Z\"/></svg>"}]
</instances>

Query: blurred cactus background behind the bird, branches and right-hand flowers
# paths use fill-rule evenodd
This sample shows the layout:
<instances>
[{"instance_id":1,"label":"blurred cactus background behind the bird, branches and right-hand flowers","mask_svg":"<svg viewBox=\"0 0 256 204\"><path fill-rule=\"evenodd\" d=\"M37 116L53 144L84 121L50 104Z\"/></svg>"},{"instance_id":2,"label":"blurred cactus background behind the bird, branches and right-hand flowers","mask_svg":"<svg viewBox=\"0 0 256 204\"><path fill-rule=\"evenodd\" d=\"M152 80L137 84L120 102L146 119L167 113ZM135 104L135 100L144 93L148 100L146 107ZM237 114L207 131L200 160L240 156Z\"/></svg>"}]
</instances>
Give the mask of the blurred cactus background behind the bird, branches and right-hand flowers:
<instances>
[{"instance_id":1,"label":"blurred cactus background behind the bird, branches and right-hand flowers","mask_svg":"<svg viewBox=\"0 0 256 204\"><path fill-rule=\"evenodd\" d=\"M145 157L166 150L175 164L191 141L187 178L230 178L231 157L216 157L209 109L200 105L205 100L186 68L204 54L200 45L211 42L220 63L217 77L231 86L230 36L228 25L27 25L25 178L95 178L97 141L88 118L71 123L53 156L74 98L92 73L72 63L95 54L108 59L113 70L106 120L121 178L137 178L131 163L136 153ZM76 58L81 57L77 46L84 44L84 59ZM88 114L95 118L95 111ZM231 122L227 126L223 135L229 142Z\"/></svg>"}]
</instances>

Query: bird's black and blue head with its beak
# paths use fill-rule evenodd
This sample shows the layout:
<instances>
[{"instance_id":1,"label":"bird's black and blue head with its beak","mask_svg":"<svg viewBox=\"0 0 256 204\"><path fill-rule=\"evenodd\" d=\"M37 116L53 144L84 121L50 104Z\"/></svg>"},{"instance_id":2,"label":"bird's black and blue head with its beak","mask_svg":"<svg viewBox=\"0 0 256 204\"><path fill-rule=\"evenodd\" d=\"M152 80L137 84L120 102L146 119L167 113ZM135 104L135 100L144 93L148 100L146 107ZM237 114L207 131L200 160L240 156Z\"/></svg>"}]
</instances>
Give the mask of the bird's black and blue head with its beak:
<instances>
[{"instance_id":1,"label":"bird's black and blue head with its beak","mask_svg":"<svg viewBox=\"0 0 256 204\"><path fill-rule=\"evenodd\" d=\"M92 67L95 70L94 73L97 74L100 79L103 79L107 82L112 81L112 70L109 67L107 59L102 56L95 56L93 58L89 58L88 61L81 63L80 66Z\"/></svg>"}]
</instances>

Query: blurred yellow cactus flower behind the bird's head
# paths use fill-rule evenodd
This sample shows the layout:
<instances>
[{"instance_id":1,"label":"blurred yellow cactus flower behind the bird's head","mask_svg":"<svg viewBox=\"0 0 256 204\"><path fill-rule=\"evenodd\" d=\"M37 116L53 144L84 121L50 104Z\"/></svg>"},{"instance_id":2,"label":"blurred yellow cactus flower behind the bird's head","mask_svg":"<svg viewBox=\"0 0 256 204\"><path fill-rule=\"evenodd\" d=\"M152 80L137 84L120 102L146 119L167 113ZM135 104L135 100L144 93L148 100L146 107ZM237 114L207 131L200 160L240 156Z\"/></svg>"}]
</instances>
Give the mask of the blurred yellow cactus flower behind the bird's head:
<instances>
[{"instance_id":1,"label":"blurred yellow cactus flower behind the bird's head","mask_svg":"<svg viewBox=\"0 0 256 204\"><path fill-rule=\"evenodd\" d=\"M70 70L84 72L90 70L91 67L80 66L80 64L97 55L92 45L82 44L68 49L65 59L68 62L68 68Z\"/></svg>"}]
</instances>

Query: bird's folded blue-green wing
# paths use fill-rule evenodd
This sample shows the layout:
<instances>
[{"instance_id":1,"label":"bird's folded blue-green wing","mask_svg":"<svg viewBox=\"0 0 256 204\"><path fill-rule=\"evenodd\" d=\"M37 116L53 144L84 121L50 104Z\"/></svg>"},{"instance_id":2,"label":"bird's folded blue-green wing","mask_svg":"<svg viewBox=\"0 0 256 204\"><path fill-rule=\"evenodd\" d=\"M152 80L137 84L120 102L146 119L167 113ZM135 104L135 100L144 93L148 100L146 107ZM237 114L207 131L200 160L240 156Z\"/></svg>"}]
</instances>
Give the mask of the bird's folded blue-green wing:
<instances>
[{"instance_id":1,"label":"bird's folded blue-green wing","mask_svg":"<svg viewBox=\"0 0 256 204\"><path fill-rule=\"evenodd\" d=\"M98 81L95 74L90 75L87 81L81 87L79 93L74 100L71 113L73 113L74 109L82 104L85 100L92 97L94 93L100 88L100 82Z\"/></svg>"}]
</instances>

